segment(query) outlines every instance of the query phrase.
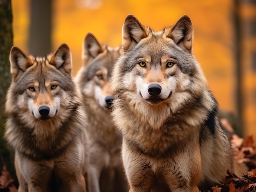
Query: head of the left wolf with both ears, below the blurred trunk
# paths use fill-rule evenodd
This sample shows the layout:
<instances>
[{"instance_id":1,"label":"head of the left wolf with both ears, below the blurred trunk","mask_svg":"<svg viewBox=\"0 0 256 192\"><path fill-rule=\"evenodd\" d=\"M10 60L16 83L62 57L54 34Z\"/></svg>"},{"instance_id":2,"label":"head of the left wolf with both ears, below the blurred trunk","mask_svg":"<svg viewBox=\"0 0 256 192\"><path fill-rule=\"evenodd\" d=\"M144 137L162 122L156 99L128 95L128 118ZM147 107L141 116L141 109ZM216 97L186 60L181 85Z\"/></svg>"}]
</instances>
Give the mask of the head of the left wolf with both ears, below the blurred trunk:
<instances>
[{"instance_id":1,"label":"head of the left wolf with both ears, below the blurred trunk","mask_svg":"<svg viewBox=\"0 0 256 192\"><path fill-rule=\"evenodd\" d=\"M13 46L10 64L12 82L7 94L7 114L18 116L24 123L56 118L63 121L68 117L75 86L67 44L61 44L47 57L26 55Z\"/></svg>"}]
</instances>

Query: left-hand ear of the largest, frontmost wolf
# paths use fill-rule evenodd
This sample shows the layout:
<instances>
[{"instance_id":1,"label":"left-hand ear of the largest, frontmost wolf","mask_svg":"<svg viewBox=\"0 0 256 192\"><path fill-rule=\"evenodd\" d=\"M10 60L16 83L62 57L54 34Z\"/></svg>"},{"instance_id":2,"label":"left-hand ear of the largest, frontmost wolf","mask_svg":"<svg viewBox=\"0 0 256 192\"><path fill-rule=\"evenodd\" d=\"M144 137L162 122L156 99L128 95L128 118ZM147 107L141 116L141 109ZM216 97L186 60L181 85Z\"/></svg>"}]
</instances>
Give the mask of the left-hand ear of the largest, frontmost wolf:
<instances>
[{"instance_id":1,"label":"left-hand ear of the largest, frontmost wolf","mask_svg":"<svg viewBox=\"0 0 256 192\"><path fill-rule=\"evenodd\" d=\"M141 39L146 38L147 31L134 15L128 15L122 28L123 51L132 49Z\"/></svg>"}]
</instances>

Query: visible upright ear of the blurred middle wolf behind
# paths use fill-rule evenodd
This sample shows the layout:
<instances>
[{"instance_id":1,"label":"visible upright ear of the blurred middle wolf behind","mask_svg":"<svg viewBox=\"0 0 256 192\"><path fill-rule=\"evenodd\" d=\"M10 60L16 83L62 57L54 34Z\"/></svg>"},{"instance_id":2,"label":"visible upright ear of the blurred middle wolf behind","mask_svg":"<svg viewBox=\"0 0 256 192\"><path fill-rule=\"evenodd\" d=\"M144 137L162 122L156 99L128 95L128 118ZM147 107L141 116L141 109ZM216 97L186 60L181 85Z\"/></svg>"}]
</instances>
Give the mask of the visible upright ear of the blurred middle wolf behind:
<instances>
[{"instance_id":1,"label":"visible upright ear of the blurred middle wolf behind","mask_svg":"<svg viewBox=\"0 0 256 192\"><path fill-rule=\"evenodd\" d=\"M102 53L102 47L97 38L92 33L87 33L82 46L82 58L88 60L90 57L95 58ZM86 62L84 62L86 63Z\"/></svg>"}]
</instances>

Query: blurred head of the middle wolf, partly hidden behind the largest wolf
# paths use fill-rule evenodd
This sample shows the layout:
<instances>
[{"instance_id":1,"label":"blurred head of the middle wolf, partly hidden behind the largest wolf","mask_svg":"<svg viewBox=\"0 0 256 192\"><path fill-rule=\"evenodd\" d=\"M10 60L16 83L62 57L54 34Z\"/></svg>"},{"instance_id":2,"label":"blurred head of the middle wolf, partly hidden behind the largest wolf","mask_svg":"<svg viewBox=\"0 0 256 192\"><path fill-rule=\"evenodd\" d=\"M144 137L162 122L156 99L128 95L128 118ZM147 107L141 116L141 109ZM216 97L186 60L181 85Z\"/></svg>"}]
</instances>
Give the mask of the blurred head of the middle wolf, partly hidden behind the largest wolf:
<instances>
[{"instance_id":1,"label":"blurred head of the middle wolf, partly hidden behind the largest wolf","mask_svg":"<svg viewBox=\"0 0 256 192\"><path fill-rule=\"evenodd\" d=\"M113 99L109 79L121 47L103 46L92 33L88 33L82 50L83 66L76 76L76 82L85 99L93 99L102 108L108 109Z\"/></svg>"}]
</instances>

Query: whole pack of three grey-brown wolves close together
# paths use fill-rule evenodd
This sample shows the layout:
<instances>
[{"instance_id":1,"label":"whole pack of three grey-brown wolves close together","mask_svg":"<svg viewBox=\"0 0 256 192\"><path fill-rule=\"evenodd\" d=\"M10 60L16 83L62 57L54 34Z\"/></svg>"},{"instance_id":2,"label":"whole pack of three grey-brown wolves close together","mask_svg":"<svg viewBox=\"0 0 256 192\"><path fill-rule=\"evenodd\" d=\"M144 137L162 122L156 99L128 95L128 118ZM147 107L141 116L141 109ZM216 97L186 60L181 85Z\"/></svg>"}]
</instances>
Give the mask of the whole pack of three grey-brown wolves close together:
<instances>
[{"instance_id":1,"label":"whole pack of three grey-brown wolves close together","mask_svg":"<svg viewBox=\"0 0 256 192\"><path fill-rule=\"evenodd\" d=\"M75 77L65 43L9 58L18 192L203 192L233 170L187 15L162 31L128 15L118 47L87 33Z\"/></svg>"}]
</instances>

